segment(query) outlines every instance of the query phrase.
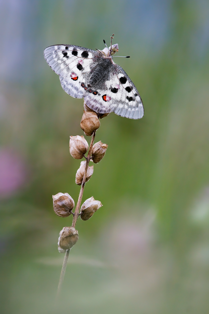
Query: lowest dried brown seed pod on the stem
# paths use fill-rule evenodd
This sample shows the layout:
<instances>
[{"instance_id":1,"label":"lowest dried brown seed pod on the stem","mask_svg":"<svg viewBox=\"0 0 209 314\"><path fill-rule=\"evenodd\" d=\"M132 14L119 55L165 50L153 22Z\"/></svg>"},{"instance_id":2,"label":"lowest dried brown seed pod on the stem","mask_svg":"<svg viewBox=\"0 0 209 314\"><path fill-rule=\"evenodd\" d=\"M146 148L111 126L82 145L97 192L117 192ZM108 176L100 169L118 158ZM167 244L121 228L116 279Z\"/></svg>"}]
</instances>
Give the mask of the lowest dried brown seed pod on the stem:
<instances>
[{"instance_id":1,"label":"lowest dried brown seed pod on the stem","mask_svg":"<svg viewBox=\"0 0 209 314\"><path fill-rule=\"evenodd\" d=\"M73 247L77 241L78 241L78 230L76 230L74 227L64 227L60 231L60 236L58 240L59 252L64 253L65 250L71 249L71 247Z\"/></svg>"}]
</instances>

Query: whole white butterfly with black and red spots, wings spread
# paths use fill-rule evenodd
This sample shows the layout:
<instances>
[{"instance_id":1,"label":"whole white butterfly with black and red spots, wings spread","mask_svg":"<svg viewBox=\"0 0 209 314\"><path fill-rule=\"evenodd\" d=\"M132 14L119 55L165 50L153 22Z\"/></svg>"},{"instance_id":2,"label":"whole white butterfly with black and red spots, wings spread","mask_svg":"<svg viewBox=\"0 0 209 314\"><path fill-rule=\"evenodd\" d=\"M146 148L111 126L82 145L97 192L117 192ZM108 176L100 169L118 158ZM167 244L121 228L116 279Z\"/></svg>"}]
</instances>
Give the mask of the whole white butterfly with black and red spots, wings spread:
<instances>
[{"instance_id":1,"label":"whole white butterfly with black and red spots, wings spread","mask_svg":"<svg viewBox=\"0 0 209 314\"><path fill-rule=\"evenodd\" d=\"M141 97L125 71L113 62L118 44L112 45L112 38L109 48L106 45L97 51L74 45L49 46L44 57L60 76L65 92L84 98L93 111L140 119L144 115Z\"/></svg>"}]
</instances>

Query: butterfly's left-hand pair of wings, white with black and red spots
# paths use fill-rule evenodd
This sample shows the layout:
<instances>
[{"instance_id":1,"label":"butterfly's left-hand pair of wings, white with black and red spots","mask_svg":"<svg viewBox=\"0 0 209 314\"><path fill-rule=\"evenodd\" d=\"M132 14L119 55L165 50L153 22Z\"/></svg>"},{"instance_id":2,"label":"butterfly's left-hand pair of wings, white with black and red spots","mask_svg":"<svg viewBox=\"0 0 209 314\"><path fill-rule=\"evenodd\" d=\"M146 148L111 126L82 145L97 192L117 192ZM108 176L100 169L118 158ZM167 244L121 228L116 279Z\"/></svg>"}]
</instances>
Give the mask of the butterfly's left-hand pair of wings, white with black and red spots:
<instances>
[{"instance_id":1,"label":"butterfly's left-hand pair of wings, white with black and red spots","mask_svg":"<svg viewBox=\"0 0 209 314\"><path fill-rule=\"evenodd\" d=\"M88 81L88 73L101 59L97 51L73 45L54 45L44 50L46 62L60 75L60 83L72 97L82 98L85 89L82 82Z\"/></svg>"}]
</instances>

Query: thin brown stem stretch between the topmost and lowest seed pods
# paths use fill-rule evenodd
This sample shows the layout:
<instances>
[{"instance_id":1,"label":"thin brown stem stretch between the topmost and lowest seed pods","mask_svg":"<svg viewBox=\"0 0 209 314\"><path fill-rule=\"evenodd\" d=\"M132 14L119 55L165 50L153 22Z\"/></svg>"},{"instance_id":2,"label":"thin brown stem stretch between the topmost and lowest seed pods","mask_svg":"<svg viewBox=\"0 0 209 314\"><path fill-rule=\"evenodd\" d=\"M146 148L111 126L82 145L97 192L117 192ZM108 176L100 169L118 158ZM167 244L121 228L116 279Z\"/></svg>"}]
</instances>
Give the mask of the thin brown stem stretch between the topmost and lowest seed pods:
<instances>
[{"instance_id":1,"label":"thin brown stem stretch between the topmost and lowest seed pods","mask_svg":"<svg viewBox=\"0 0 209 314\"><path fill-rule=\"evenodd\" d=\"M92 135L91 144L90 144L89 151L88 151L88 156L86 157L86 168L85 168L83 180L82 180L82 183L81 183L81 190L80 190L80 194L79 194L79 197L78 197L76 210L75 210L74 216L73 216L72 227L74 227L74 228L76 226L76 221L77 221L78 216L79 216L79 209L80 209L80 206L81 206L81 200L82 200L83 191L84 191L84 187L85 187L85 183L86 183L86 174L87 174L89 162L90 162L90 159L91 159L91 153L92 153L92 147L93 147L93 143L94 143L94 139L95 139L95 134L96 134L96 131L94 131L94 133Z\"/></svg>"}]
</instances>

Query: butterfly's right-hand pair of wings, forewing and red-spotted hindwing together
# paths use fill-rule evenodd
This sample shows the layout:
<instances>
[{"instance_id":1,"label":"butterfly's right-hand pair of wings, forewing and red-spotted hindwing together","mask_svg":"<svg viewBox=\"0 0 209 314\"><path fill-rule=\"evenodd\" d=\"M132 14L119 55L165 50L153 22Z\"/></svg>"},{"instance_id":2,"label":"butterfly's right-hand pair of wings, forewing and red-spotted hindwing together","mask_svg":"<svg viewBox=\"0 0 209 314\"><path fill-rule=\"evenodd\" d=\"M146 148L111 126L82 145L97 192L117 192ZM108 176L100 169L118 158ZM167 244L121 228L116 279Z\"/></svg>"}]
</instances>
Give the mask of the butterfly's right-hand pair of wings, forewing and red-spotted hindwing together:
<instances>
[{"instance_id":1,"label":"butterfly's right-hand pair of wings, forewing and red-spotted hindwing together","mask_svg":"<svg viewBox=\"0 0 209 314\"><path fill-rule=\"evenodd\" d=\"M118 64L110 67L103 84L99 82L94 89L87 89L84 100L88 107L98 113L113 111L130 119L140 119L144 115L138 90Z\"/></svg>"}]
</instances>

